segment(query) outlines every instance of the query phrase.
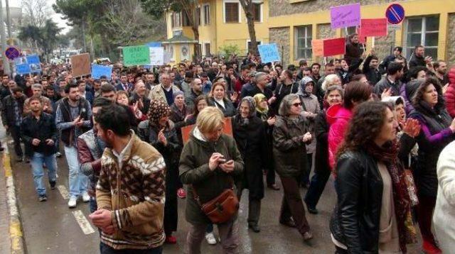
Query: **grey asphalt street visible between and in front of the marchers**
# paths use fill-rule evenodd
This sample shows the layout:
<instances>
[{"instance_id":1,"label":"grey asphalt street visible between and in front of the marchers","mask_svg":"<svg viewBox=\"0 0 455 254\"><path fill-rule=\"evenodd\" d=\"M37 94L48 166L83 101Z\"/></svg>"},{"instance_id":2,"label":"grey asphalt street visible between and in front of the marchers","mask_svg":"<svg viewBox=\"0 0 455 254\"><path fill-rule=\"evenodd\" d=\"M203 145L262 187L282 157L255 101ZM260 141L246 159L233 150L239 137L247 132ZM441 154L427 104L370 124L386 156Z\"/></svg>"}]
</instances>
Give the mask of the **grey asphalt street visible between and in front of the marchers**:
<instances>
[{"instance_id":1,"label":"grey asphalt street visible between and in front of the marchers","mask_svg":"<svg viewBox=\"0 0 455 254\"><path fill-rule=\"evenodd\" d=\"M37 200L30 165L25 162L14 162L14 155L11 163L13 163L27 252L31 254L98 253L99 238L96 228L90 224L84 226L84 222L87 222L85 218L89 214L88 205L79 203L76 209L68 209L68 200L63 197L68 189L68 167L66 167L65 158L58 159L59 189L50 190L48 187L48 201L43 203ZM303 189L302 194L304 194ZM314 240L310 244L303 243L301 236L293 228L287 228L278 223L282 190L266 190L262 202L260 233L252 233L247 229L246 191L243 197L239 219L241 253L333 253L333 244L328 231L328 221L336 197L333 182L328 183L328 188L318 206L320 214L307 214L314 233ZM186 228L188 228L188 223L183 216L185 200L179 199L178 205L178 232L175 234L178 244L165 245L164 253L183 252ZM79 216L80 213L83 216ZM80 221L82 226L77 221ZM220 253L220 250L220 245L210 246L203 242L203 253Z\"/></svg>"}]
</instances>

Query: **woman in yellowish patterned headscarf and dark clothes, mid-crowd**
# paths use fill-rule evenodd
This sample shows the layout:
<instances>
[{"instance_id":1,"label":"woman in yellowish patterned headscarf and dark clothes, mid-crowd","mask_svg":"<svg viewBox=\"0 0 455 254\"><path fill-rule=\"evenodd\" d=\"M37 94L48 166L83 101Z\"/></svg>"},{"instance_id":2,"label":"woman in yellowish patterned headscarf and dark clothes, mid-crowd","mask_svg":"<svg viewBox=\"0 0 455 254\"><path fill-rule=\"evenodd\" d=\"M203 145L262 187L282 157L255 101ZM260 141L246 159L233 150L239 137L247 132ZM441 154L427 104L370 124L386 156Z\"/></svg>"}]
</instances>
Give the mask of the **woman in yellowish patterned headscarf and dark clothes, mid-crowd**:
<instances>
[{"instance_id":1,"label":"woman in yellowish patterned headscarf and dark clothes, mid-crowd","mask_svg":"<svg viewBox=\"0 0 455 254\"><path fill-rule=\"evenodd\" d=\"M269 189L279 190L279 187L275 183L275 165L273 163L273 126L275 125L276 118L273 115L273 111L269 109L269 104L267 102L267 97L264 94L256 94L254 97L256 104L256 116L262 120L265 127L265 138L267 157L264 158L266 162L264 163L264 168L267 170L267 187Z\"/></svg>"}]
</instances>

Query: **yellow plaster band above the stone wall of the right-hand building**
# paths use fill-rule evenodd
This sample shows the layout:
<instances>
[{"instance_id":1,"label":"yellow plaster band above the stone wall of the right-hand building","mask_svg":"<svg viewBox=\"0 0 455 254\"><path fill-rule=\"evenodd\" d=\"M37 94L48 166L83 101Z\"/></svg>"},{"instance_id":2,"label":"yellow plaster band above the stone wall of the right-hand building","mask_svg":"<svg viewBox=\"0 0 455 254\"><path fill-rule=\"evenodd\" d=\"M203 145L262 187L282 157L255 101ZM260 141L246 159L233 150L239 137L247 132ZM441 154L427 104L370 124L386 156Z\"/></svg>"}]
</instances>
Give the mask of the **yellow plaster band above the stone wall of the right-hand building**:
<instances>
[{"instance_id":1,"label":"yellow plaster band above the stone wall of the right-hand building","mask_svg":"<svg viewBox=\"0 0 455 254\"><path fill-rule=\"evenodd\" d=\"M362 0L361 4L387 4L397 1L405 0ZM274 17L297 13L310 13L314 11L328 11L333 5L340 6L344 4L354 4L359 2L359 0L338 0L336 1L336 4L334 4L334 2L335 1L328 0L308 0L295 4L289 4L289 0L269 0L269 16Z\"/></svg>"}]
</instances>

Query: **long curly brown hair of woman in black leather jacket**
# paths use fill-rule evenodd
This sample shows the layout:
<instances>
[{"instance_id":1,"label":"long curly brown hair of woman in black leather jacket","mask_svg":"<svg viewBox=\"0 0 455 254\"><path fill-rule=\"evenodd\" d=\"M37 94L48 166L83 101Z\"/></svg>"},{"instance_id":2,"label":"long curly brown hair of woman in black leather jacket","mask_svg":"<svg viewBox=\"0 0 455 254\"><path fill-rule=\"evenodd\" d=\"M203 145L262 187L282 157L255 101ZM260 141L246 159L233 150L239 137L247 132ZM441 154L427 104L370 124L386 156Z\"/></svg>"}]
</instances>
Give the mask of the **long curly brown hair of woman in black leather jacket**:
<instances>
[{"instance_id":1,"label":"long curly brown hair of woman in black leather jacket","mask_svg":"<svg viewBox=\"0 0 455 254\"><path fill-rule=\"evenodd\" d=\"M360 104L354 111L336 158L340 158L347 151L360 150L367 143L372 142L384 125L387 109L394 110L390 103L382 101L368 101Z\"/></svg>"}]
</instances>

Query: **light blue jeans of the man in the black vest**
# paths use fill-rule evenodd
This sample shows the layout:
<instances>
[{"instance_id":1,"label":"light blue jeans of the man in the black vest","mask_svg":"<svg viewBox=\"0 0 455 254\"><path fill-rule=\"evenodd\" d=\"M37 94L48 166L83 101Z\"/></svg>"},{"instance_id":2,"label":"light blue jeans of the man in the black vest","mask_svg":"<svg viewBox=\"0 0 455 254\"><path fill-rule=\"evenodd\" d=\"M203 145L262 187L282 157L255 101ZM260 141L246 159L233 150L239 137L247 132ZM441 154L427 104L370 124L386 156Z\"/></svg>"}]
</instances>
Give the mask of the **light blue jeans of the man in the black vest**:
<instances>
[{"instance_id":1,"label":"light blue jeans of the man in the black vest","mask_svg":"<svg viewBox=\"0 0 455 254\"><path fill-rule=\"evenodd\" d=\"M77 149L74 146L65 145L65 157L70 170L70 174L68 174L70 197L77 198L80 194L87 192L88 177L80 172Z\"/></svg>"}]
</instances>

